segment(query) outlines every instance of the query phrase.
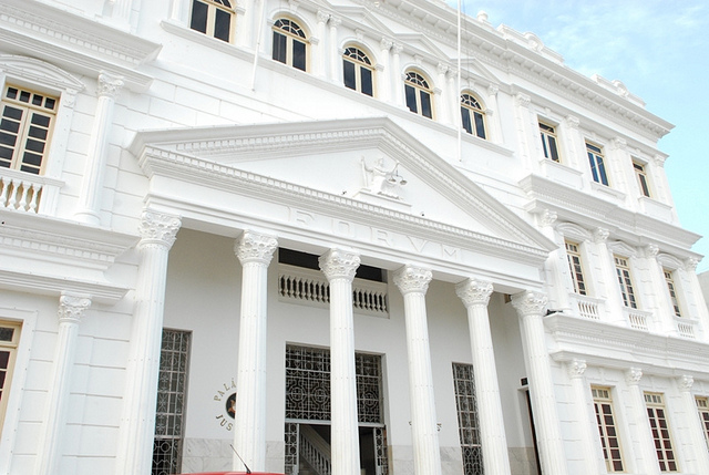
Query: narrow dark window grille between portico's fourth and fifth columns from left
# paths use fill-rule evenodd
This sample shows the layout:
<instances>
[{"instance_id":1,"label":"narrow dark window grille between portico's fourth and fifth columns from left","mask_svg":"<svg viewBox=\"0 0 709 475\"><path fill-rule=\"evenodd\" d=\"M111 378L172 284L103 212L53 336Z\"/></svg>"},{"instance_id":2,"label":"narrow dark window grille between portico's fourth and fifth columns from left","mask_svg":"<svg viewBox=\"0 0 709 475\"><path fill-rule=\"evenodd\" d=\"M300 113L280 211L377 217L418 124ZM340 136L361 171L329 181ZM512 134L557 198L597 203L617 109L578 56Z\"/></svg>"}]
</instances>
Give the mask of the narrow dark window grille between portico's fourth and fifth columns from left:
<instances>
[{"instance_id":1,"label":"narrow dark window grille between portico's fourth and fifth columns from left","mask_svg":"<svg viewBox=\"0 0 709 475\"><path fill-rule=\"evenodd\" d=\"M471 364L453 363L458 426L463 452L463 474L483 475L483 450L477 422L475 376Z\"/></svg>"}]
</instances>

